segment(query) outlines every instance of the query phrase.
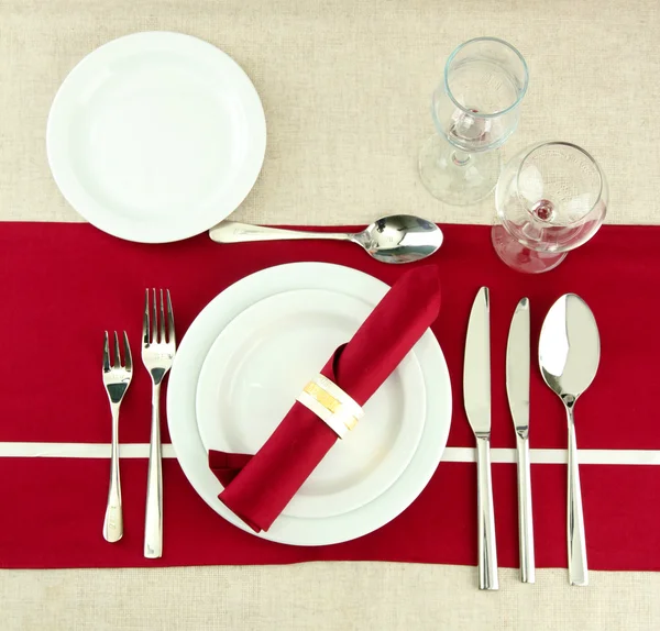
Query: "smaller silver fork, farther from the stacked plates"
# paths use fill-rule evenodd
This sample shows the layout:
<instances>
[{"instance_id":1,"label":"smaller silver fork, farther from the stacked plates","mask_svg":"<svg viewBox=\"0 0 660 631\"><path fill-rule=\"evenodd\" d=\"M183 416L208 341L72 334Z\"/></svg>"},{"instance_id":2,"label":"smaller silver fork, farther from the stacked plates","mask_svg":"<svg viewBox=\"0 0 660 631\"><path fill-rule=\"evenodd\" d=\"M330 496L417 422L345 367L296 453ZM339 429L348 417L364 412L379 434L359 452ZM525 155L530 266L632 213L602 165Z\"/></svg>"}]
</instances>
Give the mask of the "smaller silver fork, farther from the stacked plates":
<instances>
[{"instance_id":1,"label":"smaller silver fork, farther from the stacked plates","mask_svg":"<svg viewBox=\"0 0 660 631\"><path fill-rule=\"evenodd\" d=\"M110 364L110 344L108 331L103 343L103 385L110 400L112 412L112 450L110 454L110 489L108 490L108 506L103 519L103 539L110 543L119 541L123 535L123 514L121 510L121 483L119 479L119 407L129 389L133 376L133 361L131 346L127 332L123 333L124 365L121 365L119 352L119 337L114 331L114 362Z\"/></svg>"}]
</instances>

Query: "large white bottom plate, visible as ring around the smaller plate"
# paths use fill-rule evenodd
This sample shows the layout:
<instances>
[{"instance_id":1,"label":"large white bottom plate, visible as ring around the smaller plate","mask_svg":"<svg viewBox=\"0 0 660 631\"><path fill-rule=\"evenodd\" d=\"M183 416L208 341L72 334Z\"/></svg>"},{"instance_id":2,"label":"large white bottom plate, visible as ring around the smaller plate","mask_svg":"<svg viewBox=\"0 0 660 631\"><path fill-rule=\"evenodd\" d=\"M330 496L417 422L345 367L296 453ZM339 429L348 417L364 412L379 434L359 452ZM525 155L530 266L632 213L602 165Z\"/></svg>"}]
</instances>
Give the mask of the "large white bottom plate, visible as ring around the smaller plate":
<instances>
[{"instance_id":1,"label":"large white bottom plate, visible as ring around the smaller plate","mask_svg":"<svg viewBox=\"0 0 660 631\"><path fill-rule=\"evenodd\" d=\"M388 287L355 269L327 263L292 263L257 272L226 289L199 313L184 336L169 377L167 422L184 474L216 512L252 534L254 531L218 499L222 486L208 467L207 452L197 429L197 383L209 348L233 318L258 300L296 289L344 292L375 306ZM431 331L421 336L414 353L425 379L427 421L417 451L399 478L384 494L356 510L322 519L282 516L267 532L256 536L293 545L349 541L393 520L422 491L447 444L451 384L444 356Z\"/></svg>"}]
</instances>

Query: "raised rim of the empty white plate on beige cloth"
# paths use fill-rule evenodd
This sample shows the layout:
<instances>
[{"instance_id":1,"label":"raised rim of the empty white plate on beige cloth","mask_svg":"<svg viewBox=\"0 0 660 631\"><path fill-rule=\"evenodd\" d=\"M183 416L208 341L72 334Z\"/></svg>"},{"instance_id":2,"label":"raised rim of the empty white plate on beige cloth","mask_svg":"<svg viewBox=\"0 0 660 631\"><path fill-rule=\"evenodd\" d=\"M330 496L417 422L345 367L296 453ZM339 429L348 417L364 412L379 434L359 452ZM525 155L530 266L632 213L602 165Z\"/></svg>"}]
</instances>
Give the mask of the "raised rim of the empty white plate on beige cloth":
<instances>
[{"instance_id":1,"label":"raised rim of the empty white plate on beige cloth","mask_svg":"<svg viewBox=\"0 0 660 631\"><path fill-rule=\"evenodd\" d=\"M244 168L232 186L231 195L228 195L221 203L213 204L205 213L186 214L178 221L132 222L130 218L113 214L106 207L87 192L78 180L75 170L65 159L66 145L65 135L68 130L70 111L69 95L70 86L75 84L81 73L94 69L97 64L105 64L106 58L121 55L127 48L163 47L173 52L197 56L206 65L212 65L216 69L231 74L232 80L240 84L250 98L250 125L253 130L252 143ZM258 174L261 173L266 151L266 119L263 104L250 77L227 53L217 46L205 42L193 35L169 31L146 31L131 33L102 44L80 59L68 73L51 106L46 124L46 154L51 173L66 201L89 223L119 239L135 241L140 243L169 243L182 241L209 230L218 222L231 214L248 197Z\"/></svg>"}]
</instances>

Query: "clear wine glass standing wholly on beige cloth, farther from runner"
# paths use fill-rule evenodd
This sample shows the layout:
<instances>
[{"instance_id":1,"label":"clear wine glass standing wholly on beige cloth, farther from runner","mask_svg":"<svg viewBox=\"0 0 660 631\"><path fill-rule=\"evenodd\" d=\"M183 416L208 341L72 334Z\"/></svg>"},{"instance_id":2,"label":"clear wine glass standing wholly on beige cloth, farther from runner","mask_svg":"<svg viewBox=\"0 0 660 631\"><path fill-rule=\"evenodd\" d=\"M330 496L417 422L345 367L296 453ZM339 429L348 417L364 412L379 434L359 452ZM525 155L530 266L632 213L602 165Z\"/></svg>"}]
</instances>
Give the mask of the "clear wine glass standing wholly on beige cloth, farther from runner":
<instances>
[{"instance_id":1,"label":"clear wine glass standing wholly on beige cloth, farther from runner","mask_svg":"<svg viewBox=\"0 0 660 631\"><path fill-rule=\"evenodd\" d=\"M419 153L433 197L462 206L493 190L501 171L493 150L516 129L528 79L522 55L495 37L470 40L449 56L431 106L437 133Z\"/></svg>"}]
</instances>

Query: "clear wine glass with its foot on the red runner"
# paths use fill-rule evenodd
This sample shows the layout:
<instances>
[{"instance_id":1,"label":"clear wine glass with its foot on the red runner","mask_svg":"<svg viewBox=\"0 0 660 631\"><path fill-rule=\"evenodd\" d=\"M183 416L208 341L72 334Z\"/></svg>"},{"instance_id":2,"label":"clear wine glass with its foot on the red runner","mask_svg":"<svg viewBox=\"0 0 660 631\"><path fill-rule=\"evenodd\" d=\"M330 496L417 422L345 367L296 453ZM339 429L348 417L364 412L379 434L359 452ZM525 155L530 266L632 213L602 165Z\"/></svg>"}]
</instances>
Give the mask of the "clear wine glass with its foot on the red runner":
<instances>
[{"instance_id":1,"label":"clear wine glass with its foot on the red runner","mask_svg":"<svg viewBox=\"0 0 660 631\"><path fill-rule=\"evenodd\" d=\"M553 269L601 228L608 197L598 163L583 148L562 142L528 147L497 182L495 251L519 272Z\"/></svg>"}]
</instances>

